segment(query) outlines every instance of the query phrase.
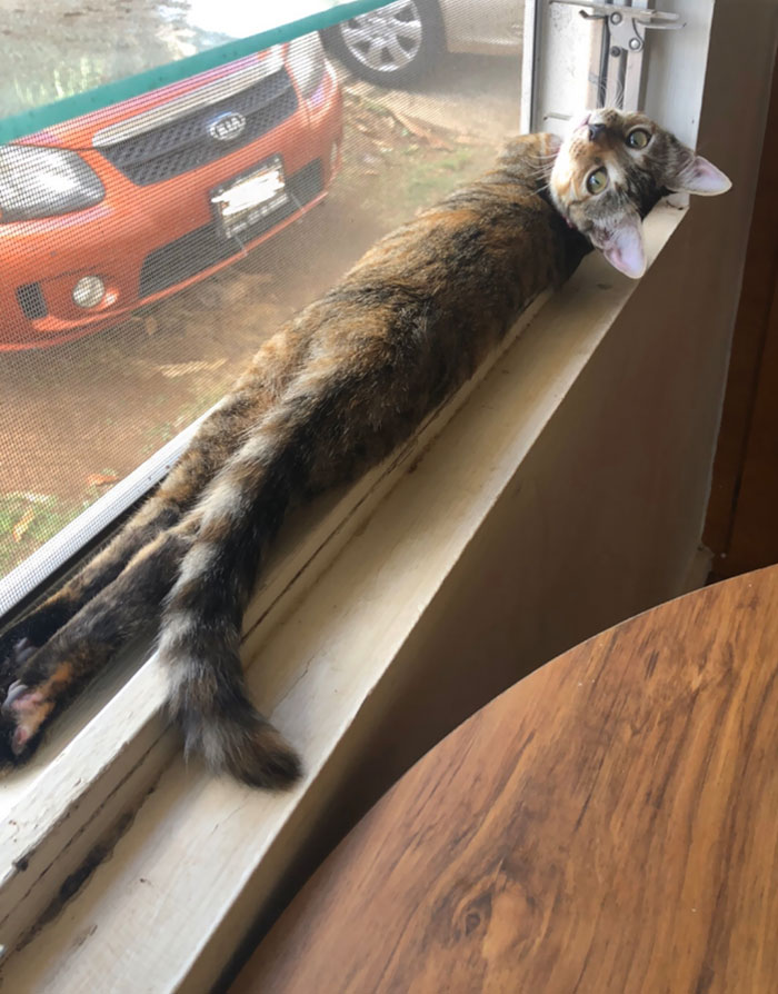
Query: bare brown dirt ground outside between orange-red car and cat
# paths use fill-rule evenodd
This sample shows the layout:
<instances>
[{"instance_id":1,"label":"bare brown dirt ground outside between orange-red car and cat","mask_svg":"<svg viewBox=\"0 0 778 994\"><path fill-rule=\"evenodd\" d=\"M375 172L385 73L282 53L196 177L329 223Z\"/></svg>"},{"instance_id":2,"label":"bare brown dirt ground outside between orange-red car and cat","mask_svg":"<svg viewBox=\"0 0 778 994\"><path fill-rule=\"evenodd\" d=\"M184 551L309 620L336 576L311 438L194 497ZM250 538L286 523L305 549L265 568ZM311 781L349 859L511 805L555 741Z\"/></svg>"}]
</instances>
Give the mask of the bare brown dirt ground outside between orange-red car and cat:
<instances>
[{"instance_id":1,"label":"bare brown dirt ground outside between orange-red car and cat","mask_svg":"<svg viewBox=\"0 0 778 994\"><path fill-rule=\"evenodd\" d=\"M519 60L449 56L412 93L343 80L329 197L216 276L70 345L0 355L0 576L226 391L258 345L518 129Z\"/></svg>"}]
</instances>

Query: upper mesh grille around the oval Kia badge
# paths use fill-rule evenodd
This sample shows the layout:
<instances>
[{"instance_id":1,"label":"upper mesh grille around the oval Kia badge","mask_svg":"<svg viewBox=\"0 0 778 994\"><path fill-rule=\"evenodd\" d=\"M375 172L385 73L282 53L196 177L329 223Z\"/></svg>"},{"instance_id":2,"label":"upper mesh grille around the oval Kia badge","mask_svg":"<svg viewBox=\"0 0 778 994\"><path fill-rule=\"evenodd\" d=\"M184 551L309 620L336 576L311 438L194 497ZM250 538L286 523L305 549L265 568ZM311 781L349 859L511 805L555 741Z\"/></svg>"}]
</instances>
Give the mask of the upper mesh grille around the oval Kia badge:
<instances>
[{"instance_id":1,"label":"upper mesh grille around the oval Kia badge","mask_svg":"<svg viewBox=\"0 0 778 994\"><path fill-rule=\"evenodd\" d=\"M179 118L101 148L100 152L139 187L162 182L227 156L255 141L291 117L298 100L286 69L260 80L252 87L218 100ZM230 141L219 141L208 133L209 123L219 113L237 112L246 118L246 128Z\"/></svg>"}]
</instances>

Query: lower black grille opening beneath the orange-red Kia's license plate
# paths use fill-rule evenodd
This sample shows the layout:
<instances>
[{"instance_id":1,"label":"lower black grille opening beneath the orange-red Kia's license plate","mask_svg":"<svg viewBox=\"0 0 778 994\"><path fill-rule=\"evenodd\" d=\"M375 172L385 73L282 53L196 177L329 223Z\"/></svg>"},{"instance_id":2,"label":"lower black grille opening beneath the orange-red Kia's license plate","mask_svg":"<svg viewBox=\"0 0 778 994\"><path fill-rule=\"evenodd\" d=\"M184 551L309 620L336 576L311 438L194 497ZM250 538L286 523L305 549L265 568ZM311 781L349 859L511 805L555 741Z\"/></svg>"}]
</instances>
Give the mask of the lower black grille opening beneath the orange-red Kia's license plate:
<instances>
[{"instance_id":1,"label":"lower black grille opening beneath the orange-red Kia's license plate","mask_svg":"<svg viewBox=\"0 0 778 994\"><path fill-rule=\"evenodd\" d=\"M278 210L261 218L250 228L240 232L237 238L223 238L219 233L216 221L202 228L196 228L176 241L170 241L156 249L143 260L140 272L140 296L150 297L176 284L180 284L217 262L229 259L241 251L243 243L249 242L269 231L285 218L295 213L300 207L310 203L323 189L323 171L321 159L315 159L302 169L287 177L289 200Z\"/></svg>"}]
</instances>

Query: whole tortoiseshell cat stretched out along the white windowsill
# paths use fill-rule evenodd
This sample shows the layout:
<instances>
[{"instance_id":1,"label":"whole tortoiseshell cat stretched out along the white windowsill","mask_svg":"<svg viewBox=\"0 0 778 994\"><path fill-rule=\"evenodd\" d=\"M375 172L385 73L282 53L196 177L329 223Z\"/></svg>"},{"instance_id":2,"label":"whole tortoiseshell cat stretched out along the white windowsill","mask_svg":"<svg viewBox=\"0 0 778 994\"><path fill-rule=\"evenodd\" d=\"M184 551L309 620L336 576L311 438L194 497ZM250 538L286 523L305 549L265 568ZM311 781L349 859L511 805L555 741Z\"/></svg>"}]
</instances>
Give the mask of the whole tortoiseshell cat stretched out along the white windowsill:
<instances>
[{"instance_id":1,"label":"whole tortoiseshell cat stretched out along the white windowsill","mask_svg":"<svg viewBox=\"0 0 778 994\"><path fill-rule=\"evenodd\" d=\"M282 786L300 763L249 702L243 610L289 508L388 455L592 246L630 277L668 191L729 181L642 115L529 135L492 171L378 241L258 351L157 491L0 640L0 764L16 765L110 656L161 614L187 751Z\"/></svg>"}]
</instances>

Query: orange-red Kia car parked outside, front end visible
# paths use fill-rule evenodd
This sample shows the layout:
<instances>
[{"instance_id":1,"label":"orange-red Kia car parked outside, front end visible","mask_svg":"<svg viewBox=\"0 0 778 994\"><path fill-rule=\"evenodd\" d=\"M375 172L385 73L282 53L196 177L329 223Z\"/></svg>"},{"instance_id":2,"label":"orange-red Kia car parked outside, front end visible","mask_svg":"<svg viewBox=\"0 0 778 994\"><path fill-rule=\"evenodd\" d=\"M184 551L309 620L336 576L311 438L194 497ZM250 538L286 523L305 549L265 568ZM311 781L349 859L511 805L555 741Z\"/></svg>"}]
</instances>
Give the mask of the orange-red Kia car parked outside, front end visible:
<instances>
[{"instance_id":1,"label":"orange-red Kia car parked outside, front end visible","mask_svg":"<svg viewBox=\"0 0 778 994\"><path fill-rule=\"evenodd\" d=\"M0 351L228 266L326 196L341 138L307 36L0 147Z\"/></svg>"}]
</instances>

